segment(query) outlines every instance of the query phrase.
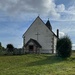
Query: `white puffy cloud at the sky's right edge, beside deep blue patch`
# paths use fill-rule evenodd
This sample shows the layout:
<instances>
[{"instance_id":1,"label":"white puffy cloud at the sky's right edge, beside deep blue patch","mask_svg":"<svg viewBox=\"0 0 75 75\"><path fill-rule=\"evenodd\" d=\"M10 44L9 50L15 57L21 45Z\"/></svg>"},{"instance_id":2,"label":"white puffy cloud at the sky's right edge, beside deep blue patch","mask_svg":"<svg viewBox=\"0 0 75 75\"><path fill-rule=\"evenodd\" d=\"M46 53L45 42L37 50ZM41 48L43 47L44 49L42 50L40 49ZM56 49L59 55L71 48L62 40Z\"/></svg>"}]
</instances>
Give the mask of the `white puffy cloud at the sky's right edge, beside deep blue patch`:
<instances>
[{"instance_id":1,"label":"white puffy cloud at the sky's right edge, beside deep blue patch","mask_svg":"<svg viewBox=\"0 0 75 75\"><path fill-rule=\"evenodd\" d=\"M58 8L62 20L75 21L75 5L71 5L67 9L65 9L65 6L63 5L59 6Z\"/></svg>"}]
</instances>

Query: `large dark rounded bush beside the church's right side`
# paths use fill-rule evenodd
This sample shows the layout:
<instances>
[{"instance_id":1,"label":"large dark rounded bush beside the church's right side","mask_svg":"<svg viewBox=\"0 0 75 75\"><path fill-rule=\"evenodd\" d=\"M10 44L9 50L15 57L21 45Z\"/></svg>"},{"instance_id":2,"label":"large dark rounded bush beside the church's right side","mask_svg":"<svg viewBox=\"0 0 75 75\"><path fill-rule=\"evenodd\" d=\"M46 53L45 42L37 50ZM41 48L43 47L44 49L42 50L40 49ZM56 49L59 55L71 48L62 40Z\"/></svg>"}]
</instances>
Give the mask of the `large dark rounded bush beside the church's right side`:
<instances>
[{"instance_id":1,"label":"large dark rounded bush beside the church's right side","mask_svg":"<svg viewBox=\"0 0 75 75\"><path fill-rule=\"evenodd\" d=\"M57 55L62 58L67 58L71 56L72 43L68 36L64 36L57 41L56 45Z\"/></svg>"}]
</instances>

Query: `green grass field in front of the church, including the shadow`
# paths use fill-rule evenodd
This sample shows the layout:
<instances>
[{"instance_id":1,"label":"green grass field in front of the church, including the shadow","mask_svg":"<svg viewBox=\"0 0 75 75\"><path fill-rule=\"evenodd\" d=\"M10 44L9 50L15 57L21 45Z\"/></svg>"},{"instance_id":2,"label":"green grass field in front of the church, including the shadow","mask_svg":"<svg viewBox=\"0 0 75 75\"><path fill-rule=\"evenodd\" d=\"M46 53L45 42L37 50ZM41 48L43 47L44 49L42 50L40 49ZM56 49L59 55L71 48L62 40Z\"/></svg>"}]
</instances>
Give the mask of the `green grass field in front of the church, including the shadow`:
<instances>
[{"instance_id":1,"label":"green grass field in front of the church, including the shadow","mask_svg":"<svg viewBox=\"0 0 75 75\"><path fill-rule=\"evenodd\" d=\"M75 56L66 60L51 54L0 56L0 75L75 75Z\"/></svg>"}]
</instances>

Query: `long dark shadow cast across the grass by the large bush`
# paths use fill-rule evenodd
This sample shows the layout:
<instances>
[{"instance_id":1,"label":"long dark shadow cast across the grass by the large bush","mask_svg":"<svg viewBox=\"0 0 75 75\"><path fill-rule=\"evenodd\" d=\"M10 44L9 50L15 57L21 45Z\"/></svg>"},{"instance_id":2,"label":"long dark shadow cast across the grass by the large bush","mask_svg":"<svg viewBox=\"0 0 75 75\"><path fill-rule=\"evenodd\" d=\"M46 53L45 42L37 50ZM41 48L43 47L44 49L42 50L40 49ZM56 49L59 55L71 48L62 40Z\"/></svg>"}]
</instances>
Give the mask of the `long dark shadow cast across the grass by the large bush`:
<instances>
[{"instance_id":1,"label":"long dark shadow cast across the grass by the large bush","mask_svg":"<svg viewBox=\"0 0 75 75\"><path fill-rule=\"evenodd\" d=\"M64 61L64 59L57 57L55 55L52 56L45 56L45 59L40 59L31 63L28 63L27 66L41 66L41 65L47 65L47 64L54 64Z\"/></svg>"}]
</instances>

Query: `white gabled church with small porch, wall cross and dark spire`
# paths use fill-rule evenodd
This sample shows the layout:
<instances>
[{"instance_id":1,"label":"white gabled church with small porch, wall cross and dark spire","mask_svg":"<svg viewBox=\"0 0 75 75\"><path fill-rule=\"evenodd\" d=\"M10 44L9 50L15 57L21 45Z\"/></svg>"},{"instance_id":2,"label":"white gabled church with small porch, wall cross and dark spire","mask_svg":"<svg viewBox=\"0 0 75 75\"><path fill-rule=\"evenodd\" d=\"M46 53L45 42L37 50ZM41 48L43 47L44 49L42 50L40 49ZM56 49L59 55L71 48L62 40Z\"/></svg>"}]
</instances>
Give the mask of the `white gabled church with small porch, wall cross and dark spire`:
<instances>
[{"instance_id":1,"label":"white gabled church with small porch, wall cross and dark spire","mask_svg":"<svg viewBox=\"0 0 75 75\"><path fill-rule=\"evenodd\" d=\"M46 24L38 16L23 34L23 49L25 53L56 53L56 42L59 38L52 31L48 20Z\"/></svg>"}]
</instances>

